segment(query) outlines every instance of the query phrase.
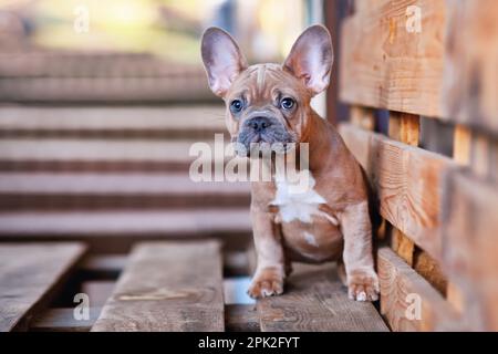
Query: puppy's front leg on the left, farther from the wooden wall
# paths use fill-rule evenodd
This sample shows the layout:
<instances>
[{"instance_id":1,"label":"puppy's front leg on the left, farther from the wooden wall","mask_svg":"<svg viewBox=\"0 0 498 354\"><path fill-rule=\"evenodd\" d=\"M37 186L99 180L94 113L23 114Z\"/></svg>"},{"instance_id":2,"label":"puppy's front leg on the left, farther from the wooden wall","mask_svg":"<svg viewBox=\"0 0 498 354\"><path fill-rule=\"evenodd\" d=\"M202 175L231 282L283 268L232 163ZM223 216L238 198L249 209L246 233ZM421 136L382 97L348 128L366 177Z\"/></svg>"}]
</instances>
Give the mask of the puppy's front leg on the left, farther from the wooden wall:
<instances>
[{"instance_id":1,"label":"puppy's front leg on the left, farther from the wooden wall","mask_svg":"<svg viewBox=\"0 0 498 354\"><path fill-rule=\"evenodd\" d=\"M251 219L258 264L248 294L255 299L279 295L286 278L280 231L268 211L251 209Z\"/></svg>"}]
</instances>

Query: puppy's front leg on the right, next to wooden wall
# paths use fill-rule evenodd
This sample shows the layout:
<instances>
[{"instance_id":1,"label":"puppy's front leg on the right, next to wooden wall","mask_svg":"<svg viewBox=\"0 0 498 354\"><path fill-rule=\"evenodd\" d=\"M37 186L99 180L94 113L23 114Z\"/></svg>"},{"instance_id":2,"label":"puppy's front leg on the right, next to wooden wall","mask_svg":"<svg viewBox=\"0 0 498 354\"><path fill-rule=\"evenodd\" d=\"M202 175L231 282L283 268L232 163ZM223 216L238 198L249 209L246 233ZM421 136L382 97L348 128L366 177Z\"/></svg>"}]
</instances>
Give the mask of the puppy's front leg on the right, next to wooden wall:
<instances>
[{"instance_id":1,"label":"puppy's front leg on the right, next to wooden wall","mask_svg":"<svg viewBox=\"0 0 498 354\"><path fill-rule=\"evenodd\" d=\"M372 225L367 202L349 206L340 217L347 290L356 301L378 300L378 278L372 254Z\"/></svg>"}]
</instances>

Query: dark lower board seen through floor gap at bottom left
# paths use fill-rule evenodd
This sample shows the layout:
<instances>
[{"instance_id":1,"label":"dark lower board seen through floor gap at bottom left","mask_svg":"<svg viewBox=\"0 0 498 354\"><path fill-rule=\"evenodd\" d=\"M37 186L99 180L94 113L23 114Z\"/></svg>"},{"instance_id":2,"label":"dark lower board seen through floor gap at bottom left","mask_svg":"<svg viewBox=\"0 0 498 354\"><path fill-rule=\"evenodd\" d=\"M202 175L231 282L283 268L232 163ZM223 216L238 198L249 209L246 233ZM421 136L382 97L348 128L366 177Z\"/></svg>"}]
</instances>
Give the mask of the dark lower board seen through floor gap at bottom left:
<instances>
[{"instance_id":1,"label":"dark lower board seen through floor gap at bottom left","mask_svg":"<svg viewBox=\"0 0 498 354\"><path fill-rule=\"evenodd\" d=\"M90 308L89 320L76 320L74 317L74 309L49 309L33 319L30 331L89 332L101 311L101 308Z\"/></svg>"}]
</instances>

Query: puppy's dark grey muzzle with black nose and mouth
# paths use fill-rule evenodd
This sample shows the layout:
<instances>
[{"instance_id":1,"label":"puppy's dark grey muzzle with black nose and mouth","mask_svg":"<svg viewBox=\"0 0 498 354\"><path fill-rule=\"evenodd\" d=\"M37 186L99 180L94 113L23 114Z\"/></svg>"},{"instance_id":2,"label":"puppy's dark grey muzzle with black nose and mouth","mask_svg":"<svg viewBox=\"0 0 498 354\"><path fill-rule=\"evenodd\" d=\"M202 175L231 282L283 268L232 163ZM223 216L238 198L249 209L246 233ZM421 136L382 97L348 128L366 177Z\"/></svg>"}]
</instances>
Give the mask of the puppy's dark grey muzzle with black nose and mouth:
<instances>
[{"instance_id":1,"label":"puppy's dark grey muzzle with black nose and mouth","mask_svg":"<svg viewBox=\"0 0 498 354\"><path fill-rule=\"evenodd\" d=\"M240 156L261 154L284 154L294 148L295 134L288 132L277 118L248 119L237 137L237 153Z\"/></svg>"}]
</instances>

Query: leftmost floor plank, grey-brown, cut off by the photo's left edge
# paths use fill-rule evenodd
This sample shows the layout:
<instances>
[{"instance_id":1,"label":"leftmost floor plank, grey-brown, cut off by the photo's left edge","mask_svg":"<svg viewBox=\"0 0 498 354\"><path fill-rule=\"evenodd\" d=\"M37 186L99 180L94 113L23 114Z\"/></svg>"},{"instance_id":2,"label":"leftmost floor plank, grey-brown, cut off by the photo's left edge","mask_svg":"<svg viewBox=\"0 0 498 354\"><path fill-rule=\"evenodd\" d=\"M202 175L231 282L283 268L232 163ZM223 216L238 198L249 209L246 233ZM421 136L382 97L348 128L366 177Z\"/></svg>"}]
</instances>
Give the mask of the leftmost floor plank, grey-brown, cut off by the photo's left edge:
<instances>
[{"instance_id":1,"label":"leftmost floor plank, grey-brown, cut off by the photo's left edge","mask_svg":"<svg viewBox=\"0 0 498 354\"><path fill-rule=\"evenodd\" d=\"M82 243L0 244L0 332L25 330L84 251Z\"/></svg>"}]
</instances>

